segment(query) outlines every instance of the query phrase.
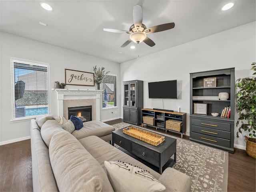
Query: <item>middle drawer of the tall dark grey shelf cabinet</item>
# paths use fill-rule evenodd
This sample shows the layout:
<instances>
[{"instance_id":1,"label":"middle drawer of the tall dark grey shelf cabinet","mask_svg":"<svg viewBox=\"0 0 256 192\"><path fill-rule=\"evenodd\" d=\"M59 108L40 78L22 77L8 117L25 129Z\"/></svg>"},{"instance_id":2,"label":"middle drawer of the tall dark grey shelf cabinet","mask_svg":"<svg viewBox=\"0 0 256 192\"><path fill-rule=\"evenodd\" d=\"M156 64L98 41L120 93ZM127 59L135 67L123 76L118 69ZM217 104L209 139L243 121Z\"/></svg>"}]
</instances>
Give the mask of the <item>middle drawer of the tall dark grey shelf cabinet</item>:
<instances>
[{"instance_id":1,"label":"middle drawer of the tall dark grey shelf cabinet","mask_svg":"<svg viewBox=\"0 0 256 192\"><path fill-rule=\"evenodd\" d=\"M230 140L230 132L192 125L192 132Z\"/></svg>"}]
</instances>

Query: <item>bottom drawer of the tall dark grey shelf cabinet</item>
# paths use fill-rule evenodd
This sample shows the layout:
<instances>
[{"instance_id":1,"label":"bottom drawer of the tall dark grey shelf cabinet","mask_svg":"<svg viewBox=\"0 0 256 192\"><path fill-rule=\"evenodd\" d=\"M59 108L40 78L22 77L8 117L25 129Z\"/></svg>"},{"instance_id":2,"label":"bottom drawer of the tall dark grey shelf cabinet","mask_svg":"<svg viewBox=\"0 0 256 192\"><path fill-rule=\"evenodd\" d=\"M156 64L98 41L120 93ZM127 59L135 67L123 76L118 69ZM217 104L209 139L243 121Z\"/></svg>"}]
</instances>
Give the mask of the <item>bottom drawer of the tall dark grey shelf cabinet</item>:
<instances>
[{"instance_id":1,"label":"bottom drawer of the tall dark grey shelf cabinet","mask_svg":"<svg viewBox=\"0 0 256 192\"><path fill-rule=\"evenodd\" d=\"M191 138L230 148L230 140L191 132Z\"/></svg>"}]
</instances>

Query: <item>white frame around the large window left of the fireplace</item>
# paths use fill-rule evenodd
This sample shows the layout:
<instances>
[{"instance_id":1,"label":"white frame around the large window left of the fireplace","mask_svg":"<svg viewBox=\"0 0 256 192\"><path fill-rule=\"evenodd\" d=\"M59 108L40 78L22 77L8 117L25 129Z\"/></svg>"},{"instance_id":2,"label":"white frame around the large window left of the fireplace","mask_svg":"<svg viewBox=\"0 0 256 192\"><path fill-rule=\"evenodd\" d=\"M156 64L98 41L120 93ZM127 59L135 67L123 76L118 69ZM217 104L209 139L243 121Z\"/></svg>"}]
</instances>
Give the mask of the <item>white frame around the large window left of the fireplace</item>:
<instances>
[{"instance_id":1,"label":"white frame around the large window left of the fireplace","mask_svg":"<svg viewBox=\"0 0 256 192\"><path fill-rule=\"evenodd\" d=\"M21 64L29 64L29 65L34 65L34 66L43 66L47 68L47 99L48 99L48 114L42 114L42 115L34 115L34 116L25 116L25 117L15 117L15 76L14 76L14 63L21 63ZM36 118L37 116L45 116L45 115L50 115L51 110L50 110L50 63L46 62L39 62L39 61L33 61L33 60L27 60L27 59L22 59L22 58L14 58L10 57L10 68L11 68L11 91L12 91L12 119L10 120L11 122L22 122L26 120L30 120L33 118Z\"/></svg>"}]
</instances>

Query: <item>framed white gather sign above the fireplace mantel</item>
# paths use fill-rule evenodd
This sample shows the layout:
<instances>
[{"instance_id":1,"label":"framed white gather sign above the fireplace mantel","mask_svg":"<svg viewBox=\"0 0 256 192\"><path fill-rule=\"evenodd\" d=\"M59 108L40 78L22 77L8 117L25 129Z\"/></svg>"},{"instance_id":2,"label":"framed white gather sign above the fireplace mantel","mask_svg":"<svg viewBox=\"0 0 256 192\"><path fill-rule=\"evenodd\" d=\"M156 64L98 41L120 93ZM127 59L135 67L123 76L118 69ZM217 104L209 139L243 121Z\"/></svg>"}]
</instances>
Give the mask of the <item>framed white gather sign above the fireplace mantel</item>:
<instances>
[{"instance_id":1,"label":"framed white gather sign above the fireplace mantel","mask_svg":"<svg viewBox=\"0 0 256 192\"><path fill-rule=\"evenodd\" d=\"M65 69L65 83L67 85L94 86L94 73Z\"/></svg>"}]
</instances>

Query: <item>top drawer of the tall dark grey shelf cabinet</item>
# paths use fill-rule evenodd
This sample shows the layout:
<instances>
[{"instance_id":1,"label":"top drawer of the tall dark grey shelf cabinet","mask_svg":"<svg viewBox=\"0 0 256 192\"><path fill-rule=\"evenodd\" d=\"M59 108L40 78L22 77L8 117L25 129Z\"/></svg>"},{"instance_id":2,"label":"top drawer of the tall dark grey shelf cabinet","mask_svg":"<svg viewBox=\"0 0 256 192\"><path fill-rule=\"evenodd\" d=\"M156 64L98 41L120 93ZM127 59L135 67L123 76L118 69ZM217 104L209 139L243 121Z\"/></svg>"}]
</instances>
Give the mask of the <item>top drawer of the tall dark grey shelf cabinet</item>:
<instances>
[{"instance_id":1,"label":"top drawer of the tall dark grey shelf cabinet","mask_svg":"<svg viewBox=\"0 0 256 192\"><path fill-rule=\"evenodd\" d=\"M216 121L192 118L192 125L206 127L206 128L214 128L214 129L224 130L224 131L230 131L230 124L216 122Z\"/></svg>"}]
</instances>

